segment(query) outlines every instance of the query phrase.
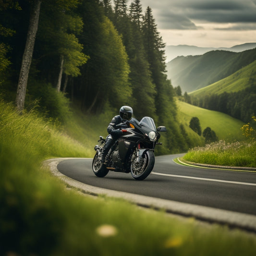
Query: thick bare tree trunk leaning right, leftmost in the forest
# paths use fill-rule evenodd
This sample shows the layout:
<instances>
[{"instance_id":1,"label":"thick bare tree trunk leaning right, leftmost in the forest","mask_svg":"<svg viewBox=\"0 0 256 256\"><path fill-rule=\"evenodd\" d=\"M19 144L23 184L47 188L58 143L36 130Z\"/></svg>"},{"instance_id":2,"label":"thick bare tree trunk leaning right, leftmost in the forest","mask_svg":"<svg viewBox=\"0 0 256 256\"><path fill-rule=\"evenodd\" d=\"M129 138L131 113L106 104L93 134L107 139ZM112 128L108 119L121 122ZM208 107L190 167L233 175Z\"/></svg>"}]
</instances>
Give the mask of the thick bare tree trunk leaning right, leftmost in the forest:
<instances>
[{"instance_id":1,"label":"thick bare tree trunk leaning right, leftmost in the forest","mask_svg":"<svg viewBox=\"0 0 256 256\"><path fill-rule=\"evenodd\" d=\"M41 2L42 0L34 1L34 4L32 4L32 11L30 14L26 45L22 58L20 77L16 94L16 107L20 113L22 113L22 111L24 110L27 79L36 40Z\"/></svg>"}]
</instances>

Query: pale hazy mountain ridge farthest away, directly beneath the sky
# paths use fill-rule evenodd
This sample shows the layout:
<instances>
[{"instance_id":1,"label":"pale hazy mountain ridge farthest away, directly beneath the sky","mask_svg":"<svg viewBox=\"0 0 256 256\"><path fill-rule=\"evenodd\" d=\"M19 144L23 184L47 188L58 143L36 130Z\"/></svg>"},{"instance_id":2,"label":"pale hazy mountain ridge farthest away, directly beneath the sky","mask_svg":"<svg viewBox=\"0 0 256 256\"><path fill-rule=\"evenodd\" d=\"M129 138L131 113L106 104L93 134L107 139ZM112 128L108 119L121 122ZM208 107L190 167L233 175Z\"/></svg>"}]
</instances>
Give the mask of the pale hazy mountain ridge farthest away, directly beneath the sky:
<instances>
[{"instance_id":1,"label":"pale hazy mountain ridge farthest away, directly beneath the sky","mask_svg":"<svg viewBox=\"0 0 256 256\"><path fill-rule=\"evenodd\" d=\"M226 50L226 51L233 51L233 52L241 52L244 50L249 50L254 48L256 48L256 43L245 43L241 45L235 45L231 48L197 47L197 46L191 46L191 45L177 45L177 46L168 45L165 48L165 53L166 53L166 60L167 62L169 62L178 56L202 55L212 50Z\"/></svg>"}]
</instances>

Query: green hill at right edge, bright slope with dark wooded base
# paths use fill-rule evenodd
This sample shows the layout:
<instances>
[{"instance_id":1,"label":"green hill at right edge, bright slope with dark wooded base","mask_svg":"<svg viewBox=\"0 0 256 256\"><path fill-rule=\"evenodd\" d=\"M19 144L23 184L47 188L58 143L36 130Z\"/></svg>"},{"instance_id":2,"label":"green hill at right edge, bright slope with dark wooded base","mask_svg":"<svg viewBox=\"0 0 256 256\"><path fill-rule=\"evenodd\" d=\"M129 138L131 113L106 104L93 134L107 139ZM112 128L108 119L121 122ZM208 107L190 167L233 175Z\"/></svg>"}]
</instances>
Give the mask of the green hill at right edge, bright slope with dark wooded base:
<instances>
[{"instance_id":1,"label":"green hill at right edge, bright slope with dark wooded base","mask_svg":"<svg viewBox=\"0 0 256 256\"><path fill-rule=\"evenodd\" d=\"M195 106L249 122L256 115L256 61L189 96Z\"/></svg>"}]
</instances>

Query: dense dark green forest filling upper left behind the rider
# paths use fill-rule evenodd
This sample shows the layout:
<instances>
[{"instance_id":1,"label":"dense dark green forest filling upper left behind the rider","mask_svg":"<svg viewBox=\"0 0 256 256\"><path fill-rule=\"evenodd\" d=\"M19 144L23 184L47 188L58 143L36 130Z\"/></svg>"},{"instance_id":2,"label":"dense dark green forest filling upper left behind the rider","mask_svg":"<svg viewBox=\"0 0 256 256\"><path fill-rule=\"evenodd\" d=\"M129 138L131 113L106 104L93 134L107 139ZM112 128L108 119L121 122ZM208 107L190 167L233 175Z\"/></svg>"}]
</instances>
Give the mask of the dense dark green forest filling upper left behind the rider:
<instances>
[{"instance_id":1,"label":"dense dark green forest filling upper left behind the rider","mask_svg":"<svg viewBox=\"0 0 256 256\"><path fill-rule=\"evenodd\" d=\"M140 0L1 1L0 42L0 97L20 113L62 122L71 104L92 115L129 105L138 120L150 116L168 128L162 153L189 146L176 121L165 43Z\"/></svg>"}]
</instances>

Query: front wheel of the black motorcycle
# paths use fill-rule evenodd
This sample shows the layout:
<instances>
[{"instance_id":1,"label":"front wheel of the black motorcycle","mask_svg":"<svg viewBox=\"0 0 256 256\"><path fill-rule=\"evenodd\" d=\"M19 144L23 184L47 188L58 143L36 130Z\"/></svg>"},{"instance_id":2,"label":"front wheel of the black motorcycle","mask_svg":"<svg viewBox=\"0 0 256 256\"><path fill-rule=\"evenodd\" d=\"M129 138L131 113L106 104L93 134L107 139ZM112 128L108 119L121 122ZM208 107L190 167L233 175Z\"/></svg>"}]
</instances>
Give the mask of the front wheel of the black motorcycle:
<instances>
[{"instance_id":1,"label":"front wheel of the black motorcycle","mask_svg":"<svg viewBox=\"0 0 256 256\"><path fill-rule=\"evenodd\" d=\"M155 155L152 150L146 151L142 157L134 161L131 164L131 173L135 180L142 181L146 179L146 177L150 174L153 170L155 164Z\"/></svg>"}]
</instances>

